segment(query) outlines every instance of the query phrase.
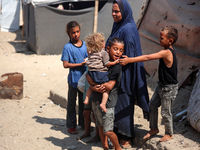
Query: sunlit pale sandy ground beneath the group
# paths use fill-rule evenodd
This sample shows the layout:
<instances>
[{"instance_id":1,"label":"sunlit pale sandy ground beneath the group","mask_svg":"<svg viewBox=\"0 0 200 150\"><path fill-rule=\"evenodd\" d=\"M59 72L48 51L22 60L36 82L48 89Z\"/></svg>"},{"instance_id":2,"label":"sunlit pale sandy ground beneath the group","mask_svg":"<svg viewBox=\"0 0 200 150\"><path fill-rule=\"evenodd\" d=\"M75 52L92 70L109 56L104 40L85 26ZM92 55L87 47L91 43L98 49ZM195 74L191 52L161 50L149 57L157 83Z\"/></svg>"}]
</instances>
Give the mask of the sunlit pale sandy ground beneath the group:
<instances>
[{"instance_id":1,"label":"sunlit pale sandy ground beneath the group","mask_svg":"<svg viewBox=\"0 0 200 150\"><path fill-rule=\"evenodd\" d=\"M0 99L0 149L1 150L101 150L101 143L86 144L90 138L77 141L83 134L78 127L78 135L70 135L65 126L66 110L50 99L50 90L67 93L68 69L62 67L61 55L36 55L22 42L21 30L16 33L0 32L0 75L20 72L24 77L23 99ZM150 97L155 83L149 78ZM187 108L193 84L179 90L173 106L173 116ZM181 119L181 118L180 118ZM187 120L174 121L174 139L159 143L164 134L164 126L159 115L160 133L149 141L142 137L149 130L142 111L135 108L134 147L130 149L199 150L200 133L188 125ZM178 121L177 121L178 120ZM92 124L94 126L94 124ZM94 136L95 132L92 132Z\"/></svg>"}]
</instances>

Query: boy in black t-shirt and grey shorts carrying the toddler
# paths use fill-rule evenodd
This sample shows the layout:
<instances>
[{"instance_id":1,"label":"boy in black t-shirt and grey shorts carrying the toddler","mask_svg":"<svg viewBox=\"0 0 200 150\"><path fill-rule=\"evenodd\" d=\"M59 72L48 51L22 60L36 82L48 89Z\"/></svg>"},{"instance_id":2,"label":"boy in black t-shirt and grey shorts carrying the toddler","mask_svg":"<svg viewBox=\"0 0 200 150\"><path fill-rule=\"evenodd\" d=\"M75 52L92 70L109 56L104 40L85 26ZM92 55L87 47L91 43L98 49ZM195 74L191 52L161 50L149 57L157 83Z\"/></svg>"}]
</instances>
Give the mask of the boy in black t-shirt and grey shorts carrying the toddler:
<instances>
[{"instance_id":1,"label":"boy in black t-shirt and grey shorts carrying the toddler","mask_svg":"<svg viewBox=\"0 0 200 150\"><path fill-rule=\"evenodd\" d=\"M109 44L106 47L107 52L110 56L110 62L118 61L124 52L124 42L119 38L111 38ZM86 78L90 84L90 88L94 91L92 93L92 111L95 116L96 126L99 129L99 135L104 150L108 149L107 137L112 142L116 150L121 150L119 145L118 137L113 132L114 128L114 108L118 99L118 91L121 79L121 70L122 67L119 63L109 67L108 78L109 81L101 85L91 85L91 78L89 75L86 75ZM105 91L109 93L109 97L106 103L107 111L106 113L102 111L99 107L102 96Z\"/></svg>"}]
</instances>

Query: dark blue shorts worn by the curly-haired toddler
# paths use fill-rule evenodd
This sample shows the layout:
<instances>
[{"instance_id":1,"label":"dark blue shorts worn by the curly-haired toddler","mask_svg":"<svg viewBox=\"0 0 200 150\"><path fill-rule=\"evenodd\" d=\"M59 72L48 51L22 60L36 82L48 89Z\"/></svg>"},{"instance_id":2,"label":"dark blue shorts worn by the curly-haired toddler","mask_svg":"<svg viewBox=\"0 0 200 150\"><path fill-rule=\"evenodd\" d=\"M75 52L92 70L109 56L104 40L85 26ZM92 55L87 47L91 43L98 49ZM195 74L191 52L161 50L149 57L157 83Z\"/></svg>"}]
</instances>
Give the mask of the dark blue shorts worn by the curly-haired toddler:
<instances>
[{"instance_id":1,"label":"dark blue shorts worn by the curly-haired toddler","mask_svg":"<svg viewBox=\"0 0 200 150\"><path fill-rule=\"evenodd\" d=\"M97 84L102 84L109 81L108 72L88 71L88 75Z\"/></svg>"}]
</instances>

